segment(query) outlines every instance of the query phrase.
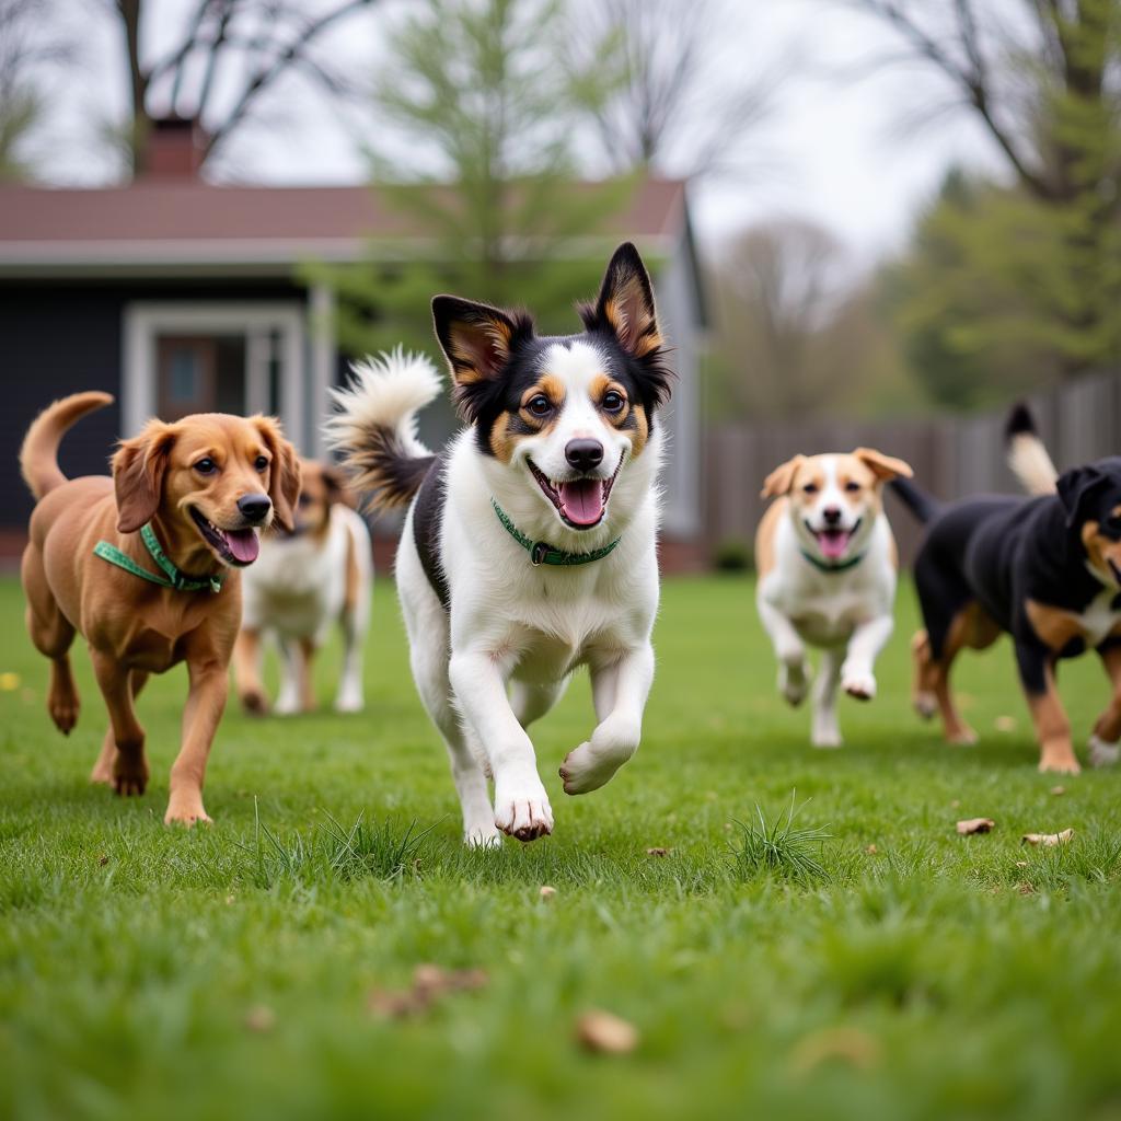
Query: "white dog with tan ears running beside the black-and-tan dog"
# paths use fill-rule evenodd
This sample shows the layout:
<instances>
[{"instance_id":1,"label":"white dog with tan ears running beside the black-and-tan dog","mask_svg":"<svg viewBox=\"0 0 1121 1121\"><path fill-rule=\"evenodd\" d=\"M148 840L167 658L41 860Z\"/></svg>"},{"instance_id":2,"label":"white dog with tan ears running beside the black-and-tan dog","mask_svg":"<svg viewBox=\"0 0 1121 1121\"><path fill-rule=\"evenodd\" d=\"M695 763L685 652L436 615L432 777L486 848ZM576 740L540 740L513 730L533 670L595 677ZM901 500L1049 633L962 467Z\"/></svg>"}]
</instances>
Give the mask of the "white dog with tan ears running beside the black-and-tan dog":
<instances>
[{"instance_id":1,"label":"white dog with tan ears running beside the black-and-tan dog","mask_svg":"<svg viewBox=\"0 0 1121 1121\"><path fill-rule=\"evenodd\" d=\"M849 455L796 455L776 467L762 497L778 501L756 535L759 618L778 657L779 692L802 703L806 646L819 647L812 741L841 747L837 684L876 695L876 659L891 637L898 557L883 513L883 483L911 469L867 447Z\"/></svg>"}]
</instances>

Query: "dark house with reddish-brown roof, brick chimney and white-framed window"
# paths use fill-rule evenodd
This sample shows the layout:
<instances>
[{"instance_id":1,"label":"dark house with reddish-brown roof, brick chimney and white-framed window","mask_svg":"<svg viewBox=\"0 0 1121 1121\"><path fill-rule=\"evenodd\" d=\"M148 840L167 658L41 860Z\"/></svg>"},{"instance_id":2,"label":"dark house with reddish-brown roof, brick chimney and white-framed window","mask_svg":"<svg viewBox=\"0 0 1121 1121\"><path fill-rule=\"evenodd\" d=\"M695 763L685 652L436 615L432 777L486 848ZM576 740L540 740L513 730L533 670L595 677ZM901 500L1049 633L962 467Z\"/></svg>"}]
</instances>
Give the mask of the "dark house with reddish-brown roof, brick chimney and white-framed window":
<instances>
[{"instance_id":1,"label":"dark house with reddish-brown roof, brick chimney and white-framed window","mask_svg":"<svg viewBox=\"0 0 1121 1121\"><path fill-rule=\"evenodd\" d=\"M346 359L330 331L332 290L298 266L419 240L372 188L213 186L194 174L189 132L168 128L161 142L152 173L128 186L0 187L0 556L22 547L31 507L16 450L65 393L117 398L64 443L71 475L105 471L114 441L150 416L206 410L274 413L303 454L323 455L327 391ZM655 284L680 374L666 419L666 559L679 567L700 555L705 325L684 184L640 183L582 249L602 242L606 260L624 238L663 262Z\"/></svg>"}]
</instances>

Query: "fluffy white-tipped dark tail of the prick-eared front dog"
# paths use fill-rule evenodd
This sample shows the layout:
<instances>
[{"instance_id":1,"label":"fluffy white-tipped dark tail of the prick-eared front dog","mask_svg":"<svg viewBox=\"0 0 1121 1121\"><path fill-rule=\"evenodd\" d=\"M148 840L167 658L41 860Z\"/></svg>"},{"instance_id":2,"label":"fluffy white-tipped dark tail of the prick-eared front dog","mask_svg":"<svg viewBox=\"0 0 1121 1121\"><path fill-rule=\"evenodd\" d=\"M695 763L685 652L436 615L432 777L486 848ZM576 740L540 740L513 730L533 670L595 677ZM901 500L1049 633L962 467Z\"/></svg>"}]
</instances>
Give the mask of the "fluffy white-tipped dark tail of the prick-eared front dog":
<instances>
[{"instance_id":1,"label":"fluffy white-tipped dark tail of the prick-eared front dog","mask_svg":"<svg viewBox=\"0 0 1121 1121\"><path fill-rule=\"evenodd\" d=\"M336 411L325 425L327 443L371 507L405 506L435 458L417 438L416 416L439 393L439 374L425 355L400 346L355 362L351 374L350 385L331 391Z\"/></svg>"}]
</instances>

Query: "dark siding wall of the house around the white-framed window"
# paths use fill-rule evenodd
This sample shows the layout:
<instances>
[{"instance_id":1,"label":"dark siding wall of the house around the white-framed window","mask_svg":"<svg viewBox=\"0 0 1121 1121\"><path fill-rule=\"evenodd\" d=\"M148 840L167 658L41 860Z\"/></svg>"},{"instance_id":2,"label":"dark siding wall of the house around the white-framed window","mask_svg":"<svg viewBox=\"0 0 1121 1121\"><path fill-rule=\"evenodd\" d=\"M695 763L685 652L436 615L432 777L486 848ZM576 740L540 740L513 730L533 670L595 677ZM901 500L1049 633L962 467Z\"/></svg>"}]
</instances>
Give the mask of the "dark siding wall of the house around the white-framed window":
<instances>
[{"instance_id":1,"label":"dark siding wall of the house around the white-framed window","mask_svg":"<svg viewBox=\"0 0 1121 1121\"><path fill-rule=\"evenodd\" d=\"M291 299L304 291L286 281L221 285L61 282L0 280L0 534L24 530L31 495L19 474L19 445L27 426L58 397L103 389L118 397L121 327L126 304L136 299ZM74 426L59 450L63 471L106 474L120 435L117 405Z\"/></svg>"}]
</instances>

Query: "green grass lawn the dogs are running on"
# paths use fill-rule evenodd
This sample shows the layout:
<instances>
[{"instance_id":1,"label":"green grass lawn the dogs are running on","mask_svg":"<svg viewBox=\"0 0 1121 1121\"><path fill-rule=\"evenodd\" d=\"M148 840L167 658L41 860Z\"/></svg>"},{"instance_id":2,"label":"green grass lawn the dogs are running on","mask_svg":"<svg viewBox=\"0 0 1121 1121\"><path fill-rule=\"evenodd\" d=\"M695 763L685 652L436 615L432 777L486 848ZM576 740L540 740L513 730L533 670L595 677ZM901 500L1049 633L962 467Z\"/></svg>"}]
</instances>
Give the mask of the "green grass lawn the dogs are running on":
<instances>
[{"instance_id":1,"label":"green grass lawn the dogs are running on","mask_svg":"<svg viewBox=\"0 0 1121 1121\"><path fill-rule=\"evenodd\" d=\"M0 1117L1121 1117L1121 775L1050 793L1003 643L958 666L981 743L944 747L907 703L909 587L899 614L879 698L845 700L847 745L815 752L750 584L668 582L638 756L564 795L592 726L577 682L535 730L555 835L470 853L388 580L368 712L231 706L215 825L192 833L161 824L185 674L141 701L148 794L89 786L105 717L85 652L63 739L2 582ZM1104 677L1084 659L1062 684L1081 748ZM734 859L734 823L794 790L795 824L832 835L824 877ZM997 830L957 836L973 816ZM430 832L398 860L414 822ZM1068 826L1062 850L1020 845ZM371 1011L423 963L488 983ZM589 1009L633 1023L633 1053L583 1051Z\"/></svg>"}]
</instances>

